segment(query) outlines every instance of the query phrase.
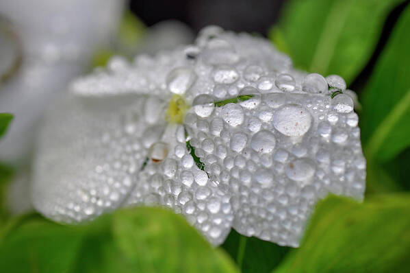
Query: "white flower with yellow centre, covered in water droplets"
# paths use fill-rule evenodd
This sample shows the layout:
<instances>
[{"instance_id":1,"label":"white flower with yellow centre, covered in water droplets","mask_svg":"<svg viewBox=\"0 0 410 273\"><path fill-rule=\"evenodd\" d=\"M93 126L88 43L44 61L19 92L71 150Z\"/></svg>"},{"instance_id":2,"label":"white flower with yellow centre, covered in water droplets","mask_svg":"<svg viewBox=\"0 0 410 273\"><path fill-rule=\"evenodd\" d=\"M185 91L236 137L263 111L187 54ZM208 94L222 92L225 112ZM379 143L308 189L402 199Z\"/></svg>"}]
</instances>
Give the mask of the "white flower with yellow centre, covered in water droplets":
<instances>
[{"instance_id":1,"label":"white flower with yellow centre, covered in water droplets","mask_svg":"<svg viewBox=\"0 0 410 273\"><path fill-rule=\"evenodd\" d=\"M81 222L160 204L212 244L233 227L298 246L319 198L363 198L358 119L340 79L329 88L267 40L218 27L154 58L113 58L49 110L34 206Z\"/></svg>"}]
</instances>

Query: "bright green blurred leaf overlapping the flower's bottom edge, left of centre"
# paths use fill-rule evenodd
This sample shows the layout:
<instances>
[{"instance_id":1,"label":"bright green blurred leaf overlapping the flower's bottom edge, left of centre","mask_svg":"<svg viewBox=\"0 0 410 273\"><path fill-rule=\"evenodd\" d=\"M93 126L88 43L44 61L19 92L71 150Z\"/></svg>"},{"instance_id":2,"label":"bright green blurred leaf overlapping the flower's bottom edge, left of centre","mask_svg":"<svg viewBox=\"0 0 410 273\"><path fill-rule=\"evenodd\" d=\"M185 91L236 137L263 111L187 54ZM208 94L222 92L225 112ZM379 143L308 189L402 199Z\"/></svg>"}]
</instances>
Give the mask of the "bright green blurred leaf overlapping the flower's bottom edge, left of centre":
<instances>
[{"instance_id":1,"label":"bright green blurred leaf overlapping the flower's bottom edge, left of centre","mask_svg":"<svg viewBox=\"0 0 410 273\"><path fill-rule=\"evenodd\" d=\"M238 272L226 253L213 248L181 215L136 208L114 215L114 237L138 272Z\"/></svg>"}]
</instances>

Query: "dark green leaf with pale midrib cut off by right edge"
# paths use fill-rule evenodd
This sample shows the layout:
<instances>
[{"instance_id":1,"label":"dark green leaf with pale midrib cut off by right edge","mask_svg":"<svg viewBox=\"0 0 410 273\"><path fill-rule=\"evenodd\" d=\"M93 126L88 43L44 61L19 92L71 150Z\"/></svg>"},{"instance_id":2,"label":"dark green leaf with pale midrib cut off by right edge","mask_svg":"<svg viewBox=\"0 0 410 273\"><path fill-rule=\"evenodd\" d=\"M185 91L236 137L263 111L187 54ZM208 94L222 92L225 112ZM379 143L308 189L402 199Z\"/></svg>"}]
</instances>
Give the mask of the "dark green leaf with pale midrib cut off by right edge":
<instances>
[{"instance_id":1,"label":"dark green leaf with pale midrib cut off by right edge","mask_svg":"<svg viewBox=\"0 0 410 273\"><path fill-rule=\"evenodd\" d=\"M398 19L362 99L366 156L385 162L410 145L410 5Z\"/></svg>"}]
</instances>

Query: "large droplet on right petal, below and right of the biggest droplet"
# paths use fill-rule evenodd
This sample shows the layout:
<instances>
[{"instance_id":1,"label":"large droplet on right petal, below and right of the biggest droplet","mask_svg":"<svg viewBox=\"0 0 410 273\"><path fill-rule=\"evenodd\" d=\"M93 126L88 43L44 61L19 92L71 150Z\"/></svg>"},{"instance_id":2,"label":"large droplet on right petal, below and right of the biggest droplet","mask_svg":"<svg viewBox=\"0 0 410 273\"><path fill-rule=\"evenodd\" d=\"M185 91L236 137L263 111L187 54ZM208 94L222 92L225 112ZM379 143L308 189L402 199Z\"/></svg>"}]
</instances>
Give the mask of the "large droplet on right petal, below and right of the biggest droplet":
<instances>
[{"instance_id":1,"label":"large droplet on right petal, below and right of the biggest droplet","mask_svg":"<svg viewBox=\"0 0 410 273\"><path fill-rule=\"evenodd\" d=\"M298 158L286 166L286 176L294 181L306 183L315 174L315 169L315 163L311 159Z\"/></svg>"}]
</instances>

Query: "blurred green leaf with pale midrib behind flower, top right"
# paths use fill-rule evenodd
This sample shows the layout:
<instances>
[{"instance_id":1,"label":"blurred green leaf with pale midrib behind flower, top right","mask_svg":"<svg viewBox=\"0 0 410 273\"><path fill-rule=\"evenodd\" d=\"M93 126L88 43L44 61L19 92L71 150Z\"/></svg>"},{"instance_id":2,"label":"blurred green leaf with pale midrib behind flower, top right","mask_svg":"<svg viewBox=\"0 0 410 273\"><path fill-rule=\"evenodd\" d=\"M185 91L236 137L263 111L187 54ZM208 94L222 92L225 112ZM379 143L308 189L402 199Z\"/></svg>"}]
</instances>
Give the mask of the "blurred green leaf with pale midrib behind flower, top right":
<instances>
[{"instance_id":1,"label":"blurred green leaf with pale midrib behind flower, top right","mask_svg":"<svg viewBox=\"0 0 410 273\"><path fill-rule=\"evenodd\" d=\"M293 0L270 38L286 45L296 67L342 75L347 84L366 65L387 14L403 0Z\"/></svg>"}]
</instances>

